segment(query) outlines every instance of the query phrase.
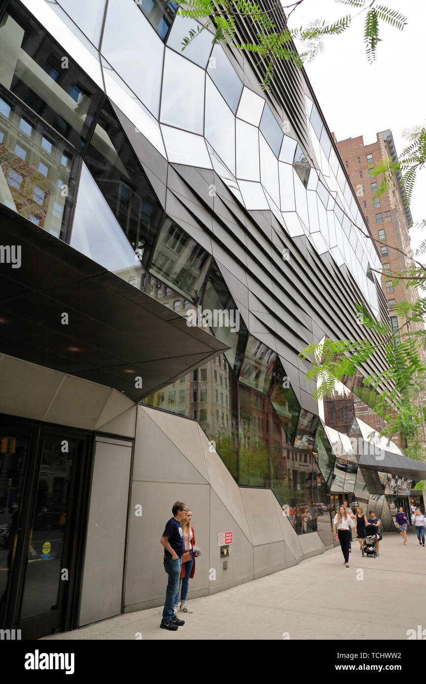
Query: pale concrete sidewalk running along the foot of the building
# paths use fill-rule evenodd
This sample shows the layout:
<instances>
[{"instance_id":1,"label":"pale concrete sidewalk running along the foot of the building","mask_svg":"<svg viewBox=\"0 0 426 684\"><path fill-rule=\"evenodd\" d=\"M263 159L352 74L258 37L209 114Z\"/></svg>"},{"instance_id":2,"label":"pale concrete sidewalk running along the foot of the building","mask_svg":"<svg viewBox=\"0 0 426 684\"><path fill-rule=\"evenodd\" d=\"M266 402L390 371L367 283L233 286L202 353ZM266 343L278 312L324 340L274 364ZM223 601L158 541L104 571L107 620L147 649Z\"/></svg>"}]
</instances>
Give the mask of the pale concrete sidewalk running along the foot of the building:
<instances>
[{"instance_id":1,"label":"pale concrete sidewalk running along the foot of the building","mask_svg":"<svg viewBox=\"0 0 426 684\"><path fill-rule=\"evenodd\" d=\"M352 543L349 566L340 547L235 588L189 601L185 626L159 629L162 608L128 613L48 637L55 640L401 639L426 629L426 548L414 530L407 547L384 535L380 557ZM167 583L165 577L164 590ZM288 634L288 637L286 636ZM140 636L139 636L140 638Z\"/></svg>"}]
</instances>

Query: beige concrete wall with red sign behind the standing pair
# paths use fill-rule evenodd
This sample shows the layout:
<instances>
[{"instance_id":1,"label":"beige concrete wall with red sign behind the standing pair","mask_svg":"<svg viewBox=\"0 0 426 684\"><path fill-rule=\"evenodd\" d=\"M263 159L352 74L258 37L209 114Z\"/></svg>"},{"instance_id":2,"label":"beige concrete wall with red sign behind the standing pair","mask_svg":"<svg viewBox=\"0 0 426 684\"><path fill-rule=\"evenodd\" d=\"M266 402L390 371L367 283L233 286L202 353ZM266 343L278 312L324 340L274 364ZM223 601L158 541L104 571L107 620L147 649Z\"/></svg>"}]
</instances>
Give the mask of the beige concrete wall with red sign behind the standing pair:
<instances>
[{"instance_id":1,"label":"beige concrete wall with red sign behind the standing pair","mask_svg":"<svg viewBox=\"0 0 426 684\"><path fill-rule=\"evenodd\" d=\"M202 556L188 599L291 567L322 553L317 533L298 537L271 490L239 488L196 421L137 407L124 611L163 605L167 575L160 538L174 501L193 512ZM142 506L142 517L133 514ZM232 531L228 568L219 532ZM328 547L327 547L328 548Z\"/></svg>"}]
</instances>

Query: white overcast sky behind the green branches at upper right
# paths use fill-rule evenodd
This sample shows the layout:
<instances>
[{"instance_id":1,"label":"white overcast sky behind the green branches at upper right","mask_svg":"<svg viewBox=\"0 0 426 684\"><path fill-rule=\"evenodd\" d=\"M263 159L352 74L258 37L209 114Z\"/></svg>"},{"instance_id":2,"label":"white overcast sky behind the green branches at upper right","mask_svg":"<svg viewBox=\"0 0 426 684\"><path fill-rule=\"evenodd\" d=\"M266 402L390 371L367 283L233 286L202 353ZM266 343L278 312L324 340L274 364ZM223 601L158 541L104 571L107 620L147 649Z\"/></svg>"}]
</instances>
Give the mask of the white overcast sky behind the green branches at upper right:
<instances>
[{"instance_id":1,"label":"white overcast sky behind the green branches at upper right","mask_svg":"<svg viewBox=\"0 0 426 684\"><path fill-rule=\"evenodd\" d=\"M291 1L282 0L282 4ZM382 0L381 3L405 14L408 25L398 31L381 22L382 42L373 64L369 64L365 55L365 14L362 14L341 36L324 39L323 53L306 66L306 73L337 140L362 135L364 145L371 144L378 131L390 129L399 154L408 144L403 138L403 129L423 124L426 118L426 3L425 0ZM317 18L336 21L356 13L355 8L335 0L304 0L291 15L289 25L296 28ZM410 208L414 221L426 218L426 170L417 176ZM418 231L410 234L415 249L420 236ZM421 236L425 238L426 229ZM426 257L421 261L426 261Z\"/></svg>"}]
</instances>

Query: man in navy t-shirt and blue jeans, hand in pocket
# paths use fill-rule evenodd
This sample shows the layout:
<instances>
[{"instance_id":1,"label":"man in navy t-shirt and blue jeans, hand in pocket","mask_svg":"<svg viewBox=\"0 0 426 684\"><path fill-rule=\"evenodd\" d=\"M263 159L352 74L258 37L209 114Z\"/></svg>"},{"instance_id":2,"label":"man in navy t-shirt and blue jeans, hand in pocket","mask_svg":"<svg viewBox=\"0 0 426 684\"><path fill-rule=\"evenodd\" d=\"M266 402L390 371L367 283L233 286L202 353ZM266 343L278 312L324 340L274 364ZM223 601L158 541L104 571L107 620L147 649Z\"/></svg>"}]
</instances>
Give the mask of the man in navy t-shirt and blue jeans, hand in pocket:
<instances>
[{"instance_id":1,"label":"man in navy t-shirt and blue jeans, hand in pocket","mask_svg":"<svg viewBox=\"0 0 426 684\"><path fill-rule=\"evenodd\" d=\"M173 601L179 588L179 576L181 575L182 556L185 551L181 521L185 518L187 510L185 503L176 501L172 507L173 517L165 523L163 536L160 544L164 547L164 570L168 574L168 585L165 592L165 604L161 629L176 631L185 624L185 620L179 620L173 610Z\"/></svg>"}]
</instances>

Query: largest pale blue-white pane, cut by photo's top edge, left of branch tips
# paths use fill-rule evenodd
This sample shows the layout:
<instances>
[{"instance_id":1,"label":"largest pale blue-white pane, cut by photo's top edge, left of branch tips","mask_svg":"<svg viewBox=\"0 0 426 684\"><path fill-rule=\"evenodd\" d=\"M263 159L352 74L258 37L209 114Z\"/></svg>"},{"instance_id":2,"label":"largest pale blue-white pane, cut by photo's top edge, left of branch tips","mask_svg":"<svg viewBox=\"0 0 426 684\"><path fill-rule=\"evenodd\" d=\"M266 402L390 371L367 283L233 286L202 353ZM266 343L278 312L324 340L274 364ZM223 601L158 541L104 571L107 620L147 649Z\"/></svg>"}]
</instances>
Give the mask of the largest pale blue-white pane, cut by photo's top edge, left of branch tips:
<instances>
[{"instance_id":1,"label":"largest pale blue-white pane, cut by photo's top edge, left of branch tips","mask_svg":"<svg viewBox=\"0 0 426 684\"><path fill-rule=\"evenodd\" d=\"M142 45L149 60L141 59ZM159 111L163 52L163 42L135 3L109 0L101 53L155 116Z\"/></svg>"}]
</instances>

